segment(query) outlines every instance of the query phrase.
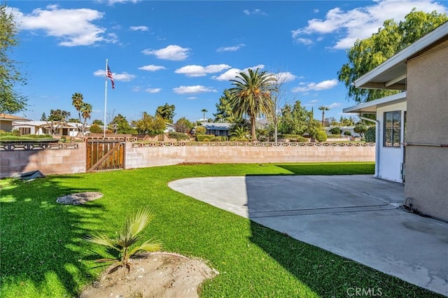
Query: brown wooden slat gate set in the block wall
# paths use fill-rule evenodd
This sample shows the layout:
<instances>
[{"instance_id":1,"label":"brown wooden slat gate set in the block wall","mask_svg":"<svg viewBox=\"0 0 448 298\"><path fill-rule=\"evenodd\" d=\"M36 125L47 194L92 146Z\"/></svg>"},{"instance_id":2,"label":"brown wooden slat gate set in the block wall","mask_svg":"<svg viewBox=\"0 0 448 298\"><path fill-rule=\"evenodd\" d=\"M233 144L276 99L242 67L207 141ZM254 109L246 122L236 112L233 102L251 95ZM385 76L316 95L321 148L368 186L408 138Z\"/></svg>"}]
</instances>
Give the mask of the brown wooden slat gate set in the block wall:
<instances>
[{"instance_id":1,"label":"brown wooden slat gate set in the block wall","mask_svg":"<svg viewBox=\"0 0 448 298\"><path fill-rule=\"evenodd\" d=\"M125 141L86 139L85 171L125 169Z\"/></svg>"}]
</instances>

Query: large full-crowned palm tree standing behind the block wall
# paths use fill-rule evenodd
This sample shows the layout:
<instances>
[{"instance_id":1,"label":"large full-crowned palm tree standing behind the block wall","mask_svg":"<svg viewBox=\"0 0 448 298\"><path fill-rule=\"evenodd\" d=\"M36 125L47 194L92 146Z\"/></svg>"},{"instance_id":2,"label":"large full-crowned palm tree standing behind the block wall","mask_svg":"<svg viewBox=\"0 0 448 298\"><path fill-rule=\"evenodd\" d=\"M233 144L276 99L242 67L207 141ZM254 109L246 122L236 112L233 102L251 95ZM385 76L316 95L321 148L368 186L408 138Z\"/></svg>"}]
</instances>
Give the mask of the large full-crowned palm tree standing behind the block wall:
<instances>
[{"instance_id":1,"label":"large full-crowned palm tree standing behind the block wall","mask_svg":"<svg viewBox=\"0 0 448 298\"><path fill-rule=\"evenodd\" d=\"M274 103L271 94L275 88L275 77L266 71L248 69L240 72L235 80L230 80L233 86L229 92L232 96L232 113L237 118L248 115L251 122L252 141L257 141L255 120L262 115L274 113Z\"/></svg>"}]
</instances>

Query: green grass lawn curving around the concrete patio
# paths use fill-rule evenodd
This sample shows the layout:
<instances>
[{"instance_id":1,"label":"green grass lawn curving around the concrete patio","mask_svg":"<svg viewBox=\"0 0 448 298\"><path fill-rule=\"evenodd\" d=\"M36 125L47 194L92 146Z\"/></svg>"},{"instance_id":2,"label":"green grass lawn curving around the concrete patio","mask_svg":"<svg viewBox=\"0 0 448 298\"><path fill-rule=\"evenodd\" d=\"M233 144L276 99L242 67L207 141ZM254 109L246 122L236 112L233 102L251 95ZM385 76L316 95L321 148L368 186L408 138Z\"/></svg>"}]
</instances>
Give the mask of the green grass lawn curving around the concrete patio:
<instances>
[{"instance_id":1,"label":"green grass lawn curving around the concrete patio","mask_svg":"<svg viewBox=\"0 0 448 298\"><path fill-rule=\"evenodd\" d=\"M209 260L220 272L203 285L202 297L347 297L355 287L381 288L383 297L439 297L167 187L171 180L199 176L373 171L373 163L203 164L48 176L29 183L0 180L0 297L76 297L106 268L93 262L106 257L106 250L83 237L113 235L141 206L155 213L144 239L155 236L166 251ZM104 197L85 206L55 202L85 191Z\"/></svg>"}]
</instances>

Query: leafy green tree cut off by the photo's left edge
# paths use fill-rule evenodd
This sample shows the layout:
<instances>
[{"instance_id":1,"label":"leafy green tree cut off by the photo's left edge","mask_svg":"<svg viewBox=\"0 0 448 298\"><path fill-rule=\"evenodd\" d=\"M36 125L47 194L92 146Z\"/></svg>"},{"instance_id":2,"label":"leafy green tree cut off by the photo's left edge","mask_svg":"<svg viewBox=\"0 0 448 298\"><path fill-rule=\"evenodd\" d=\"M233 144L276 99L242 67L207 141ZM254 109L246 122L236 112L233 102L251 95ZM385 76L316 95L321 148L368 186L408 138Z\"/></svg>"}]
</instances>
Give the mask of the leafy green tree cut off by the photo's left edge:
<instances>
[{"instance_id":1,"label":"leafy green tree cut off by the photo's left edge","mask_svg":"<svg viewBox=\"0 0 448 298\"><path fill-rule=\"evenodd\" d=\"M0 113L14 114L27 108L27 97L15 91L16 85L26 85L27 81L18 70L18 62L10 58L18 45L17 32L13 14L0 3Z\"/></svg>"}]
</instances>

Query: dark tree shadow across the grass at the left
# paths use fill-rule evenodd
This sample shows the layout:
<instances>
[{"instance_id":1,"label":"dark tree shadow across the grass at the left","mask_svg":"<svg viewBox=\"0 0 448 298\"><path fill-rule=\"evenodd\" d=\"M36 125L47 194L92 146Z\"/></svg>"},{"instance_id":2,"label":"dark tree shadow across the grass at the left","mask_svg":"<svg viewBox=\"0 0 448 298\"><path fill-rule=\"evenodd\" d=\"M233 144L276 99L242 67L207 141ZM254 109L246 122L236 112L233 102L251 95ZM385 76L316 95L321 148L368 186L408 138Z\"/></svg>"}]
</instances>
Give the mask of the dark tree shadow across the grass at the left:
<instances>
[{"instance_id":1,"label":"dark tree shadow across the grass at the left","mask_svg":"<svg viewBox=\"0 0 448 298\"><path fill-rule=\"evenodd\" d=\"M56 202L64 194L97 191L64 183L78 178L1 183L1 297L73 297L94 278L83 261L82 239L102 221L101 199L78 206Z\"/></svg>"}]
</instances>

